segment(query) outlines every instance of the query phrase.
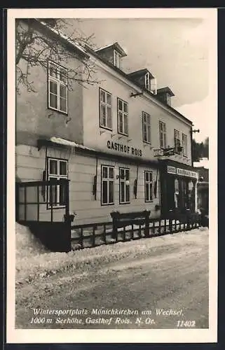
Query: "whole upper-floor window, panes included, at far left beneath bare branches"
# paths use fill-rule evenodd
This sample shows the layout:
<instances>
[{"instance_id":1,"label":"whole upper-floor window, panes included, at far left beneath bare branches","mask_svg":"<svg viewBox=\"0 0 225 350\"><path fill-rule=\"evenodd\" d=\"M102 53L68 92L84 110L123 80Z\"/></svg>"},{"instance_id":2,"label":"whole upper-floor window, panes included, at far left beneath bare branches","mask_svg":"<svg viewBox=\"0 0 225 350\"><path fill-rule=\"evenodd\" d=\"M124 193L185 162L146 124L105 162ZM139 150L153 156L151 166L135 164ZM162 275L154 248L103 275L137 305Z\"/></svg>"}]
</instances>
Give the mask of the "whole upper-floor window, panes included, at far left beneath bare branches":
<instances>
[{"instance_id":1,"label":"whole upper-floor window, panes included, at far left beneath bare branches","mask_svg":"<svg viewBox=\"0 0 225 350\"><path fill-rule=\"evenodd\" d=\"M48 108L67 113L67 69L48 62Z\"/></svg>"}]
</instances>

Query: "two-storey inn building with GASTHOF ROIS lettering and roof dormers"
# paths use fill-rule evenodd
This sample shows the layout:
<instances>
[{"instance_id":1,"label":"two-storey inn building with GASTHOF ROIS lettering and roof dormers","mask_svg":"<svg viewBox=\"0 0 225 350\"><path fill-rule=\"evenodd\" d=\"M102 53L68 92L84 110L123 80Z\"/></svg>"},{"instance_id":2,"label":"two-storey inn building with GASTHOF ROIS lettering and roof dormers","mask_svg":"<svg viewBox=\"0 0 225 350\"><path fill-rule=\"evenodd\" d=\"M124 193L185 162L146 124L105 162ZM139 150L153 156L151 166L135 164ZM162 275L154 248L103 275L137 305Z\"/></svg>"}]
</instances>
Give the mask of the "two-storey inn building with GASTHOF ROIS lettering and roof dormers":
<instances>
[{"instance_id":1,"label":"two-storey inn building with GASTHOF ROIS lettering and roof dormers","mask_svg":"<svg viewBox=\"0 0 225 350\"><path fill-rule=\"evenodd\" d=\"M43 30L51 35L50 28ZM122 71L126 52L118 43L98 50L67 47L74 58L49 60L46 71L34 66L36 92L24 88L17 97L16 181L69 179L77 224L111 221L115 210L147 209L151 218L195 211L192 123L172 108L170 88L157 89L149 69ZM69 90L67 71L82 57L94 62L100 83L74 83ZM61 192L56 186L57 221L64 214ZM27 215L32 219L32 209ZM49 220L48 205L40 215Z\"/></svg>"}]
</instances>

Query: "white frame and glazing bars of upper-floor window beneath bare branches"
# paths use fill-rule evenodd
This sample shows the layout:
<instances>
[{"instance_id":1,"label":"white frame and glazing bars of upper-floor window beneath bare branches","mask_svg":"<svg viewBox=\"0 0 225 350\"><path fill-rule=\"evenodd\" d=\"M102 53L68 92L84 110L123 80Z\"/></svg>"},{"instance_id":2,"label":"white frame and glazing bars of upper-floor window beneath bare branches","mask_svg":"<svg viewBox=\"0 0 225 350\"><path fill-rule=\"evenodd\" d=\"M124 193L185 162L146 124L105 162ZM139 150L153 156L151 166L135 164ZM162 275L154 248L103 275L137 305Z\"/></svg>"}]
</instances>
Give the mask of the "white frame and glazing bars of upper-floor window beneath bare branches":
<instances>
[{"instance_id":1,"label":"white frame and glazing bars of upper-floor window beneath bare branches","mask_svg":"<svg viewBox=\"0 0 225 350\"><path fill-rule=\"evenodd\" d=\"M50 75L51 68L55 69L56 77ZM67 72L66 81L60 80L60 70ZM50 94L53 94L52 92L50 92L50 82L57 84L57 94L55 94L55 96L57 96L57 108L55 108L55 106L50 106ZM65 97L66 110L65 111L60 109L60 85L62 85L63 87L66 87L66 97ZM61 113L65 113L65 114L68 113L68 69L51 61L48 61L48 108L54 109L55 111L59 111Z\"/></svg>"}]
</instances>

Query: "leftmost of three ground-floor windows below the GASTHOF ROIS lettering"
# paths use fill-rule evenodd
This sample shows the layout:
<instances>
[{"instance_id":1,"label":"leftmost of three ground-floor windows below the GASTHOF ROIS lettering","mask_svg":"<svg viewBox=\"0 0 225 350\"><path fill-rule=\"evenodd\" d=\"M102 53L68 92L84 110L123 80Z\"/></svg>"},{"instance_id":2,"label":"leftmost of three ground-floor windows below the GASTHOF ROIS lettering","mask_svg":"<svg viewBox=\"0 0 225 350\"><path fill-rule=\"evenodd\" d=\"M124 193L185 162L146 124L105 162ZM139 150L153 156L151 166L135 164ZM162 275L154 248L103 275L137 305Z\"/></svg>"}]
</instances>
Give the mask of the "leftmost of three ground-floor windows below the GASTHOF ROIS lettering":
<instances>
[{"instance_id":1,"label":"leftmost of three ground-floor windows below the GASTHOF ROIS lettering","mask_svg":"<svg viewBox=\"0 0 225 350\"><path fill-rule=\"evenodd\" d=\"M114 204L114 167L102 165L102 205Z\"/></svg>"}]
</instances>

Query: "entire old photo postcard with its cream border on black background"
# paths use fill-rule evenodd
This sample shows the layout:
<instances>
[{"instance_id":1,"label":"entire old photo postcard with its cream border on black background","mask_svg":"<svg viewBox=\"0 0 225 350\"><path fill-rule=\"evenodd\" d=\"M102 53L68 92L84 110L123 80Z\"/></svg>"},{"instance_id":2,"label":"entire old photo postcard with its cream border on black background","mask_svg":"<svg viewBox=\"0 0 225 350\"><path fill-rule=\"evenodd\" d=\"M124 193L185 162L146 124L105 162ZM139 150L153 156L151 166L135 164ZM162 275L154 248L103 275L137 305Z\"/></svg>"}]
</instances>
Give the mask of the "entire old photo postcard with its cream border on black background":
<instances>
[{"instance_id":1,"label":"entire old photo postcard with its cream border on black background","mask_svg":"<svg viewBox=\"0 0 225 350\"><path fill-rule=\"evenodd\" d=\"M217 341L217 10L8 10L8 342Z\"/></svg>"}]
</instances>

